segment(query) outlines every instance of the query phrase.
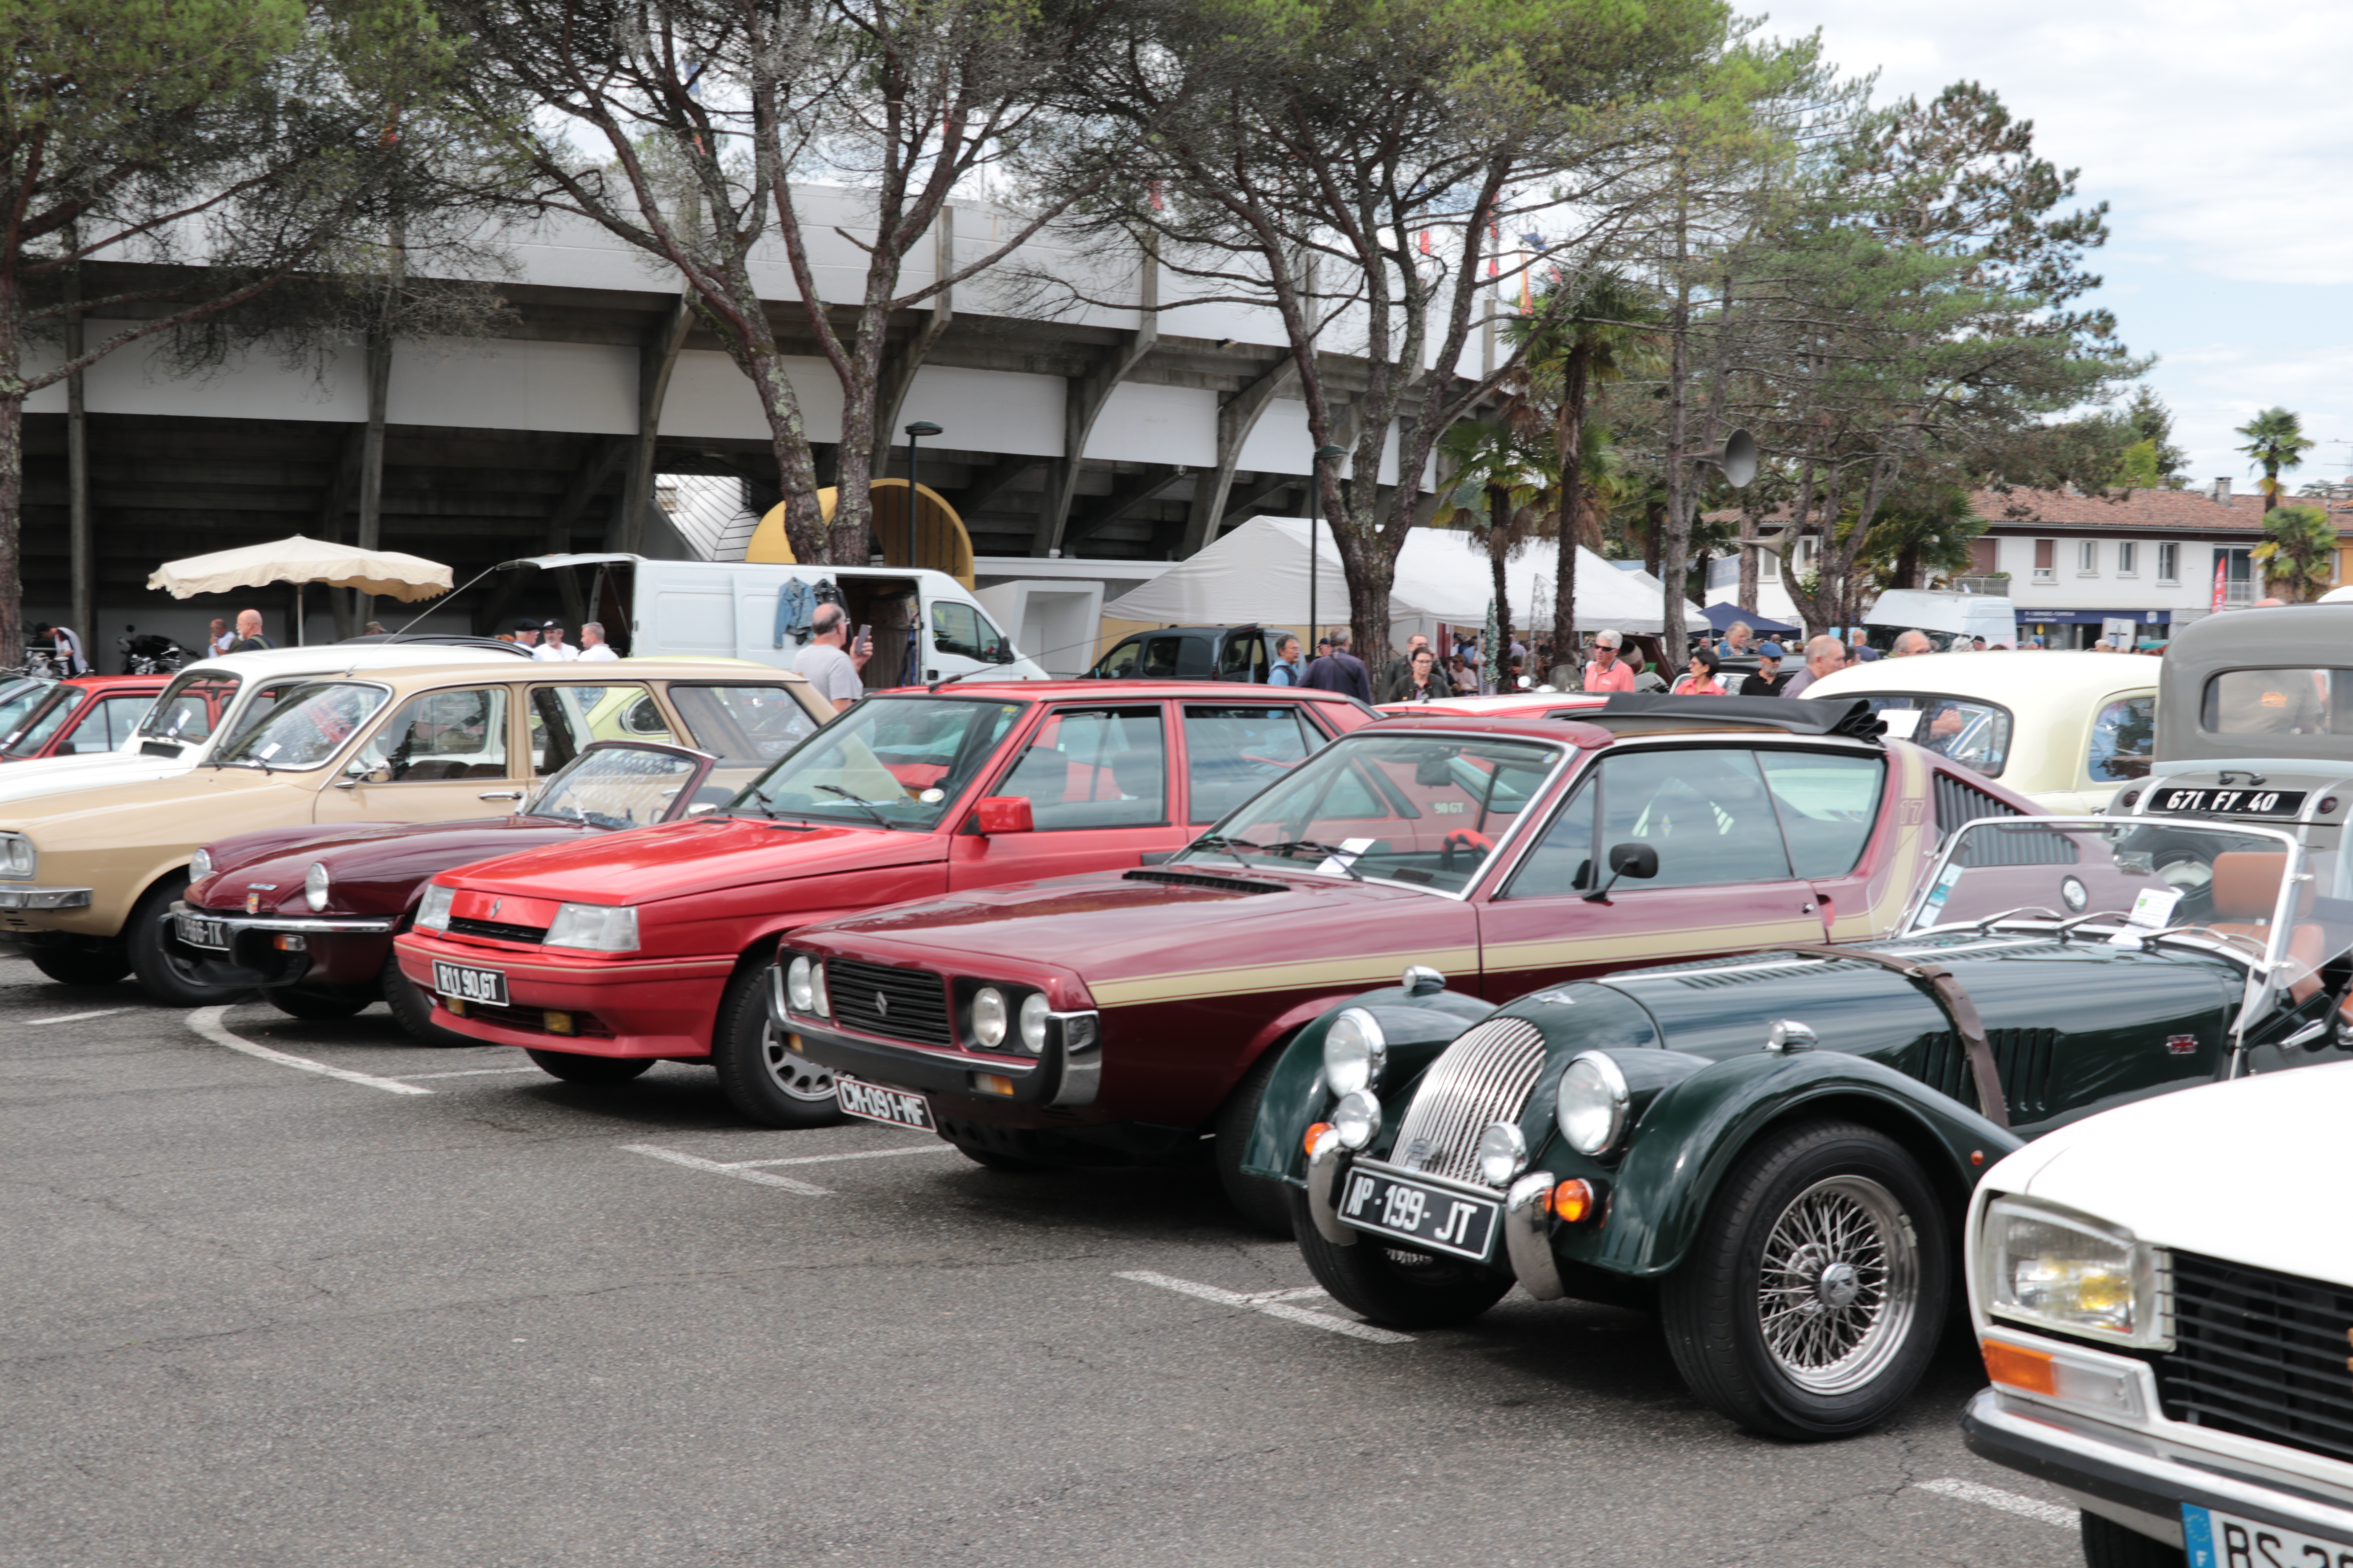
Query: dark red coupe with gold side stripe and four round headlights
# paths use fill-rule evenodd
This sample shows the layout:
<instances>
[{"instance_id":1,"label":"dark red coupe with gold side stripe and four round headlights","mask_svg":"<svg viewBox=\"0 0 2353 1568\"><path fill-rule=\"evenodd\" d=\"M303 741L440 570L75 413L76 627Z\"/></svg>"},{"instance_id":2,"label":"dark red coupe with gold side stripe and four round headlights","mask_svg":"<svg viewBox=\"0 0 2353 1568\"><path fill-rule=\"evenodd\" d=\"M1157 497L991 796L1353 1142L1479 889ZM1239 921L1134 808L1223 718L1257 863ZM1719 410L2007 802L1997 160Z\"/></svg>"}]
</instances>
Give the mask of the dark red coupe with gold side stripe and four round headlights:
<instances>
[{"instance_id":1,"label":"dark red coupe with gold side stripe and four round headlights","mask_svg":"<svg viewBox=\"0 0 2353 1568\"><path fill-rule=\"evenodd\" d=\"M2038 813L1859 703L1619 696L1384 719L1165 865L951 893L793 933L786 1051L842 1110L981 1164L1176 1159L1235 1201L1292 1030L1426 966L1506 1001L1579 976L1889 936L1944 832Z\"/></svg>"}]
</instances>

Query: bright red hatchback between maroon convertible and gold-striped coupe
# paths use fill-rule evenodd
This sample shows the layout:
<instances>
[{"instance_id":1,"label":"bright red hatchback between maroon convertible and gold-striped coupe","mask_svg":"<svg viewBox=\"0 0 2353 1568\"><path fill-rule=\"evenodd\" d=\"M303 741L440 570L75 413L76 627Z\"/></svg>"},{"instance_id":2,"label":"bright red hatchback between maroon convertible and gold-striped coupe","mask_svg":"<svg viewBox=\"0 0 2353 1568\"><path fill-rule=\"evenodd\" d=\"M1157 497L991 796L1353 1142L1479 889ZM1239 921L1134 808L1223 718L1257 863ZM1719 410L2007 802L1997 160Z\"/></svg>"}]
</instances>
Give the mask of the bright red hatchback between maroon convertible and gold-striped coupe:
<instances>
[{"instance_id":1,"label":"bright red hatchback between maroon convertible and gold-striped coupe","mask_svg":"<svg viewBox=\"0 0 2353 1568\"><path fill-rule=\"evenodd\" d=\"M831 1121L833 1074L769 1023L779 936L1162 860L1372 719L1329 691L1209 682L885 691L715 813L435 877L395 952L433 1023L522 1046L555 1077L711 1060L753 1121Z\"/></svg>"}]
</instances>

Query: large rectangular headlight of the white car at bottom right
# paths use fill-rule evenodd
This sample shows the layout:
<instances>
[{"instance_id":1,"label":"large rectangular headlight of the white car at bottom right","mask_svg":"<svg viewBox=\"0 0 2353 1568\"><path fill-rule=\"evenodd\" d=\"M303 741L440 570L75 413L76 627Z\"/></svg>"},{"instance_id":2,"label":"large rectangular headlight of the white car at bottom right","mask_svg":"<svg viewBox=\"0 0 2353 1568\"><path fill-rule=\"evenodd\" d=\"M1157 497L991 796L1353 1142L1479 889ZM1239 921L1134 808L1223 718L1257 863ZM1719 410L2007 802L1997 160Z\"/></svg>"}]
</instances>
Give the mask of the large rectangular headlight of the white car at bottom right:
<instances>
[{"instance_id":1,"label":"large rectangular headlight of the white car at bottom right","mask_svg":"<svg viewBox=\"0 0 2353 1568\"><path fill-rule=\"evenodd\" d=\"M2125 1345L2172 1342L2158 1248L2099 1220L2002 1197L1986 1204L1979 1267L1995 1316Z\"/></svg>"}]
</instances>

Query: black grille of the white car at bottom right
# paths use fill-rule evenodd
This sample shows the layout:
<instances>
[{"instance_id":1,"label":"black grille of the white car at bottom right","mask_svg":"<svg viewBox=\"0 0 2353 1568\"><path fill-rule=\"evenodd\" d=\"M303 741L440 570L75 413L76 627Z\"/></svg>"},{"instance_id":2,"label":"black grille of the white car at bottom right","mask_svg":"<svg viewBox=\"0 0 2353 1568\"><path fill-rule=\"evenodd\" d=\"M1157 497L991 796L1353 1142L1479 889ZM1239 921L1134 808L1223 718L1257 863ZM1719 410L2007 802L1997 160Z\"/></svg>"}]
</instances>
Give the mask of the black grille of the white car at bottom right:
<instances>
[{"instance_id":1,"label":"black grille of the white car at bottom right","mask_svg":"<svg viewBox=\"0 0 2353 1568\"><path fill-rule=\"evenodd\" d=\"M2174 1342L2158 1356L2169 1420L2353 1460L2346 1331L2353 1288L2174 1253Z\"/></svg>"}]
</instances>

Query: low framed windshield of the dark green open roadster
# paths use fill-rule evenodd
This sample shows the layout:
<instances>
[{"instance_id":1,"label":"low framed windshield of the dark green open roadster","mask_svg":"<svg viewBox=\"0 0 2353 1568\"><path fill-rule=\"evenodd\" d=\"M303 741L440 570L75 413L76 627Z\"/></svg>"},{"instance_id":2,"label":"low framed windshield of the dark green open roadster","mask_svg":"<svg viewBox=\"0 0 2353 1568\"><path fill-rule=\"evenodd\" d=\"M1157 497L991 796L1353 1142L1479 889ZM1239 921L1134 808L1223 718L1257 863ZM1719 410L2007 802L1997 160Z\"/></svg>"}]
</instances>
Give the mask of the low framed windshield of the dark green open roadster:
<instances>
[{"instance_id":1,"label":"low framed windshield of the dark green open roadster","mask_svg":"<svg viewBox=\"0 0 2353 1568\"><path fill-rule=\"evenodd\" d=\"M1911 929L2021 919L2125 947L2184 940L2268 964L2292 994L2311 994L2353 952L2353 889L2341 882L2339 856L2285 832L2021 816L1951 839Z\"/></svg>"}]
</instances>

